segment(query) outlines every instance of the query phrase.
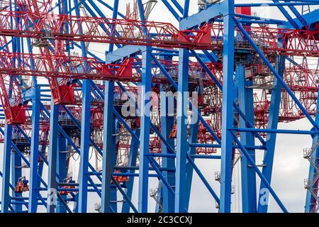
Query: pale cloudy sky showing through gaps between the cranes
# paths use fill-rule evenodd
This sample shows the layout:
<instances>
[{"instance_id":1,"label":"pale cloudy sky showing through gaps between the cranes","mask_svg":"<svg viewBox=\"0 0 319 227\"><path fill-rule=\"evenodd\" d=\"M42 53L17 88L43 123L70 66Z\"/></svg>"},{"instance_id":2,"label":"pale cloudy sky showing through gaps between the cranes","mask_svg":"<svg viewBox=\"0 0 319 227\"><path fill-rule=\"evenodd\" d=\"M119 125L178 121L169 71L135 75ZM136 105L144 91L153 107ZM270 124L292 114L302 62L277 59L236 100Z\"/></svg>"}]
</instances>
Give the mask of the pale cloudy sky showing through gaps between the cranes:
<instances>
[{"instance_id":1,"label":"pale cloudy sky showing through gaps between the cranes","mask_svg":"<svg viewBox=\"0 0 319 227\"><path fill-rule=\"evenodd\" d=\"M181 0L179 0L181 1ZM108 1L110 4L112 1ZM120 11L125 13L125 7L128 2L133 3L133 1L121 0ZM269 1L236 1L236 3L251 3L251 2L264 2ZM104 9L104 8L103 8ZM197 1L191 0L190 15L196 13L197 11ZM252 11L257 11L259 16L271 17L277 19L284 19L281 13L274 7L259 7L253 8ZM111 12L106 12L106 16L111 18ZM155 10L151 13L149 21L162 21L170 22L178 27L178 23L169 11L163 6L162 1L155 6ZM103 57L103 51L105 45L96 44L90 45L89 50L97 52L99 57ZM279 123L279 128L288 129L300 129L309 130L311 128L308 120L301 119L293 123ZM303 159L303 148L308 148L311 146L311 138L309 135L277 135L276 140L276 150L274 157L274 170L272 177L272 187L278 194L281 201L286 205L286 208L290 212L303 212L303 206L306 200L306 189L303 188L303 179L308 177L308 160ZM0 145L0 170L2 170L2 157L3 157L3 145ZM263 152L257 151L257 164L262 163ZM94 158L91 159L91 163L95 163ZM71 168L76 173L78 171L79 162L72 162ZM213 189L219 195L219 183L214 180L214 172L220 170L220 161L218 160L196 160L196 165L200 168L201 172L208 182L211 184ZM28 176L27 170L23 170ZM45 167L44 178L47 178L47 167ZM77 175L73 176L77 179ZM133 192L133 203L138 204L138 181L135 178L135 187ZM240 201L240 168L236 165L233 174L233 184L235 185L235 194L233 195L232 209L234 212L241 211L241 201ZM157 180L150 179L150 188L157 187ZM0 180L1 186L1 180ZM257 177L257 189L259 189L259 177ZM1 193L0 193L1 194ZM119 200L122 199L119 196ZM150 205L149 211L155 211L155 201L149 198ZM99 202L99 196L94 193L89 194L89 212L94 211L94 202ZM204 186L201 179L194 173L193 184L191 188L191 201L189 206L190 212L217 212L215 207L215 201L209 194L208 190ZM45 211L43 207L39 211ZM274 199L269 201L269 211L271 212L281 212L279 206L276 204Z\"/></svg>"}]
</instances>

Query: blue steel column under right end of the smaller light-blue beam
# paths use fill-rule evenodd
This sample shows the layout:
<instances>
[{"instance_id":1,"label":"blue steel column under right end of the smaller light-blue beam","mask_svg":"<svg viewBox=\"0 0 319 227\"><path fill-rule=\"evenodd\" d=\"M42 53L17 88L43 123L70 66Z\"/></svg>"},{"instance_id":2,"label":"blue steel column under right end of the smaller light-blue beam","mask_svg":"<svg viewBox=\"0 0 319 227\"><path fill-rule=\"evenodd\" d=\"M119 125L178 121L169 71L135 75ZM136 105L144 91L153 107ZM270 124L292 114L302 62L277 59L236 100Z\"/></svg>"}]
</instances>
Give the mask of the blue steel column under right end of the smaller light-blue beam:
<instances>
[{"instance_id":1,"label":"blue steel column under right end of the smaller light-blue beam","mask_svg":"<svg viewBox=\"0 0 319 227\"><path fill-rule=\"evenodd\" d=\"M152 48L142 51L142 87L140 98L140 167L138 181L138 212L147 213L148 170L150 152L150 91L152 82Z\"/></svg>"}]
</instances>

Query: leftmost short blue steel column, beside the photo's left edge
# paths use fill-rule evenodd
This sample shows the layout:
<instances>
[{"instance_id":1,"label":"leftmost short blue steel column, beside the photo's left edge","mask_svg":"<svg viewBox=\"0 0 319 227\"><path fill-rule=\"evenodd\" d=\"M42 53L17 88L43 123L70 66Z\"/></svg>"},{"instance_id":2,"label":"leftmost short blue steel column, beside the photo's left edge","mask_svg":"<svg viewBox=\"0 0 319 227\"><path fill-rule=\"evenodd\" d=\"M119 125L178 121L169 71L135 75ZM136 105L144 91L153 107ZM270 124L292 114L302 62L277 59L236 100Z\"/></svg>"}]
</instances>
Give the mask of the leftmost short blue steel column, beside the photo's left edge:
<instances>
[{"instance_id":1,"label":"leftmost short blue steel column, beside the photo's left edge","mask_svg":"<svg viewBox=\"0 0 319 227\"><path fill-rule=\"evenodd\" d=\"M2 172L2 194L1 194L1 213L9 212L10 205L10 160L11 160L11 138L12 125L4 126L4 164Z\"/></svg>"}]
</instances>

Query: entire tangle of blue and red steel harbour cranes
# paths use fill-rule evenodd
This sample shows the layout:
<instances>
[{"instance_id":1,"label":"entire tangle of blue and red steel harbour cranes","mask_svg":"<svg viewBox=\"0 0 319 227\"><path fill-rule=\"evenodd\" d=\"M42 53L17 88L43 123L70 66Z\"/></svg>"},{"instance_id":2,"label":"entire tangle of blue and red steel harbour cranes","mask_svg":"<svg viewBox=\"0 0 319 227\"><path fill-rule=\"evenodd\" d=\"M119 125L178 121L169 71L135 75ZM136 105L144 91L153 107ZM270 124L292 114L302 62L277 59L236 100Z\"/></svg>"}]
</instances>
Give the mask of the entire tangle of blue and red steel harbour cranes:
<instances>
[{"instance_id":1,"label":"entire tangle of blue and red steel harbour cranes","mask_svg":"<svg viewBox=\"0 0 319 227\"><path fill-rule=\"evenodd\" d=\"M235 165L243 212L267 212L269 196L287 212L271 184L281 133L313 140L305 212L318 212L319 1L269 1L285 20L253 15L262 3L201 0L189 15L182 2L160 3L174 26L148 19L154 0L125 13L119 0L0 1L1 212L85 213L90 193L99 212L184 213L194 173L230 212ZM312 128L278 128L301 118ZM220 192L200 159L220 165Z\"/></svg>"}]
</instances>

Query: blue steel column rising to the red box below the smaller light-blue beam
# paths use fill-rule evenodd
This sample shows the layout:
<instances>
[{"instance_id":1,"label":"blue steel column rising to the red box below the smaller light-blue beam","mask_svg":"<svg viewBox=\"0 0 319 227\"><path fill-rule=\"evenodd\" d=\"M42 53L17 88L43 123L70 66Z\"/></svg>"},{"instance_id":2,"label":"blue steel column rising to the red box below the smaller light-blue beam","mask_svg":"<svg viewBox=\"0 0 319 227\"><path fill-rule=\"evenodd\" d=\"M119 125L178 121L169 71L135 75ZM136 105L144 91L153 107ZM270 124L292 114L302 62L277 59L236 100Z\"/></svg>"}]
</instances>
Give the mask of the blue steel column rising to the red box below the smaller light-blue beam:
<instances>
[{"instance_id":1,"label":"blue steel column rising to the red box below the smaller light-blue beam","mask_svg":"<svg viewBox=\"0 0 319 227\"><path fill-rule=\"evenodd\" d=\"M115 144L113 144L113 99L114 82L105 82L104 113L103 113L103 160L102 160L102 196L101 212L111 212L111 181L114 171L113 157L115 153Z\"/></svg>"}]
</instances>

